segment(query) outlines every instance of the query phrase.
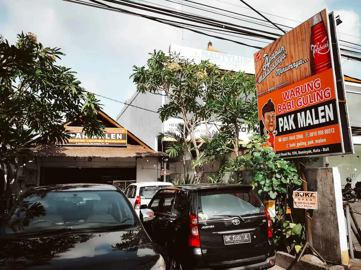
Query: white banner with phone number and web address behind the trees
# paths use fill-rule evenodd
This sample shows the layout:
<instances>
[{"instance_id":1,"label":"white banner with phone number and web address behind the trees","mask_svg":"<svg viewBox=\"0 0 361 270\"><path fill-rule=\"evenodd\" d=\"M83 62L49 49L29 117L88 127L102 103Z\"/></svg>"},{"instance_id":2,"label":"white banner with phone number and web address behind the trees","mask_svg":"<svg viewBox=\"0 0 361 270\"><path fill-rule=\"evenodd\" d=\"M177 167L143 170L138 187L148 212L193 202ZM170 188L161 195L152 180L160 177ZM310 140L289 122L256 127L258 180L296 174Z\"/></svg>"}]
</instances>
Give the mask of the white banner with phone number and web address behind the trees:
<instances>
[{"instance_id":1,"label":"white banner with phone number and web address behind the trees","mask_svg":"<svg viewBox=\"0 0 361 270\"><path fill-rule=\"evenodd\" d=\"M163 132L167 132L167 131L173 131L176 132L178 134L180 134L179 132L177 132L177 125L179 123L183 123L182 119L179 118L169 118L168 120L166 120L163 123L164 126L164 131ZM201 139L203 138L204 135L206 135L207 133L207 128L208 128L208 134L213 134L219 131L219 128L222 126L221 122L216 122L216 123L212 123L212 124L201 124L199 126L196 127L195 129L195 138L196 139ZM252 135L252 131L248 131L247 127L245 125L241 125L241 130L239 132L239 139L240 141L244 141L244 142L248 142L249 141L249 137ZM188 138L190 138L188 136ZM164 140L171 140L170 138L164 138Z\"/></svg>"}]
</instances>

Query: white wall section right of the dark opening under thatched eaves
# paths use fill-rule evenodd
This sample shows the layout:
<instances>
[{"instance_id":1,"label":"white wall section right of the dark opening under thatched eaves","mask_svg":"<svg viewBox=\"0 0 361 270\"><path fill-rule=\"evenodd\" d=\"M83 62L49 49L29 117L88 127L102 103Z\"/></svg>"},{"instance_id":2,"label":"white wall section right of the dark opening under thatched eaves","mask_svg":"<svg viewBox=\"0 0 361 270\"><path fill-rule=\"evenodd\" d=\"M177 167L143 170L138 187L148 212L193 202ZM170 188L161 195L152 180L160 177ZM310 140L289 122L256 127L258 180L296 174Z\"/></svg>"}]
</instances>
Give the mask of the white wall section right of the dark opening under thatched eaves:
<instances>
[{"instance_id":1,"label":"white wall section right of the dark opening under thatched eaves","mask_svg":"<svg viewBox=\"0 0 361 270\"><path fill-rule=\"evenodd\" d=\"M136 181L157 181L160 177L158 158L138 158L136 161Z\"/></svg>"}]
</instances>

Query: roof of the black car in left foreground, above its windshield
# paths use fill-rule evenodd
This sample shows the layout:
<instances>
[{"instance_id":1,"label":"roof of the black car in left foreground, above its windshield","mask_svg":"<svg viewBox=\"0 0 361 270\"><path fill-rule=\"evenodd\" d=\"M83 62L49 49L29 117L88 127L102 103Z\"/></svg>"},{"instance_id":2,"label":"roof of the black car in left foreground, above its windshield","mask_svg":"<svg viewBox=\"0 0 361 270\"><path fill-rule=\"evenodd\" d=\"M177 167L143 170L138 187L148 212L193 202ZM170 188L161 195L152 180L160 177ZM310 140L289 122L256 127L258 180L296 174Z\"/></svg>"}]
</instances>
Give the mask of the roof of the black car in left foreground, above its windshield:
<instances>
[{"instance_id":1,"label":"roof of the black car in left foreground, above its windshield","mask_svg":"<svg viewBox=\"0 0 361 270\"><path fill-rule=\"evenodd\" d=\"M93 183L77 183L77 184L60 184L60 185L47 185L35 186L31 191L99 191L99 190L119 190L117 186L109 184L93 184ZM30 190L29 190L30 191Z\"/></svg>"}]
</instances>

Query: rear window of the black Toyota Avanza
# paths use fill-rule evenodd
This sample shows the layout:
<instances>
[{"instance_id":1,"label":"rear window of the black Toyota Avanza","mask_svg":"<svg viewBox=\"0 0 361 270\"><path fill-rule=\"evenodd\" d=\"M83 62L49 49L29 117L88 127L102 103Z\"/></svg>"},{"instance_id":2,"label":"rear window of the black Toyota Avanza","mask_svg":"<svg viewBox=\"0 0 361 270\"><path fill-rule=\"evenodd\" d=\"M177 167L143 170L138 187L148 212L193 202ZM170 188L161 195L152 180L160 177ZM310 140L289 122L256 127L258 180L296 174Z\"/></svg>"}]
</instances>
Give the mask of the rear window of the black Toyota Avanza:
<instances>
[{"instance_id":1,"label":"rear window of the black Toyota Avanza","mask_svg":"<svg viewBox=\"0 0 361 270\"><path fill-rule=\"evenodd\" d=\"M251 190L212 190L199 193L198 216L200 219L219 218L222 215L257 215L265 208Z\"/></svg>"}]
</instances>

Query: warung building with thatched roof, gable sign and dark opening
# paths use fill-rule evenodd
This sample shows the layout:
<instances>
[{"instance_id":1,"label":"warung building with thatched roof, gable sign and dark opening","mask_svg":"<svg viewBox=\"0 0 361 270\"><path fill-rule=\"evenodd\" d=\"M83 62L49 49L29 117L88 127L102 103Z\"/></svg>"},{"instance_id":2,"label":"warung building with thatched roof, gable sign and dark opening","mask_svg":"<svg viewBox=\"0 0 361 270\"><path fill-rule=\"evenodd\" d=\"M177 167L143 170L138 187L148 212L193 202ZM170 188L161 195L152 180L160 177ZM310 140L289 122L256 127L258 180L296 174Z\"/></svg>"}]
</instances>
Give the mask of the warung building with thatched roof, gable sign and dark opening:
<instances>
[{"instance_id":1,"label":"warung building with thatched roof, gable sign and dark opening","mask_svg":"<svg viewBox=\"0 0 361 270\"><path fill-rule=\"evenodd\" d=\"M66 123L72 131L68 142L36 144L18 169L13 193L30 186L102 183L125 190L131 183L157 181L160 163L167 155L153 150L132 132L100 111L104 138L88 138L80 122Z\"/></svg>"}]
</instances>

